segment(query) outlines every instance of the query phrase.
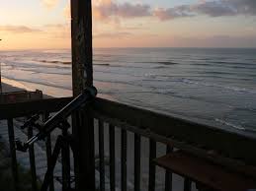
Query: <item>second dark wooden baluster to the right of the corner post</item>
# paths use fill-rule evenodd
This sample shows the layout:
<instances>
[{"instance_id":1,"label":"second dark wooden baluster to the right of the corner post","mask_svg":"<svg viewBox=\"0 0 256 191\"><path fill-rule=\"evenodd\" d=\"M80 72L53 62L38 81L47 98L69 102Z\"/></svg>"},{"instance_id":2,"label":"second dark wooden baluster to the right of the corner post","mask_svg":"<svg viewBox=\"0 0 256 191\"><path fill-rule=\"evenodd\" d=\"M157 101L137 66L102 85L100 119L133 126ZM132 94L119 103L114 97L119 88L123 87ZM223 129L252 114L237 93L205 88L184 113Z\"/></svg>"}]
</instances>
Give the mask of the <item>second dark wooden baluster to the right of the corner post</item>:
<instances>
[{"instance_id":1,"label":"second dark wooden baluster to the right of the corner post","mask_svg":"<svg viewBox=\"0 0 256 191\"><path fill-rule=\"evenodd\" d=\"M111 191L116 190L116 152L115 152L115 126L109 125L110 136L110 185Z\"/></svg>"}]
</instances>

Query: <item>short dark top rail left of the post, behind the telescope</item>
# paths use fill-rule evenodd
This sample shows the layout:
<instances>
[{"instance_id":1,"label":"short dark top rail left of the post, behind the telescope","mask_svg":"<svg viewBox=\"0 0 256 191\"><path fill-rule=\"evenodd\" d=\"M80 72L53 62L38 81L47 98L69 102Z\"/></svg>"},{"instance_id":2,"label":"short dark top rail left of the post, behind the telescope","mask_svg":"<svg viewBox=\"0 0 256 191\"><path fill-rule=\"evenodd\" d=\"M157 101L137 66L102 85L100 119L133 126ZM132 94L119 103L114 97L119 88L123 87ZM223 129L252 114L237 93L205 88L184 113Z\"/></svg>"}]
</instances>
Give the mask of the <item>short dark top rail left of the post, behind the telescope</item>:
<instances>
[{"instance_id":1,"label":"short dark top rail left of the post, behind the telescope","mask_svg":"<svg viewBox=\"0 0 256 191\"><path fill-rule=\"evenodd\" d=\"M0 120L23 117L43 111L54 112L65 106L72 97L48 98L28 102L10 103L0 105Z\"/></svg>"}]
</instances>

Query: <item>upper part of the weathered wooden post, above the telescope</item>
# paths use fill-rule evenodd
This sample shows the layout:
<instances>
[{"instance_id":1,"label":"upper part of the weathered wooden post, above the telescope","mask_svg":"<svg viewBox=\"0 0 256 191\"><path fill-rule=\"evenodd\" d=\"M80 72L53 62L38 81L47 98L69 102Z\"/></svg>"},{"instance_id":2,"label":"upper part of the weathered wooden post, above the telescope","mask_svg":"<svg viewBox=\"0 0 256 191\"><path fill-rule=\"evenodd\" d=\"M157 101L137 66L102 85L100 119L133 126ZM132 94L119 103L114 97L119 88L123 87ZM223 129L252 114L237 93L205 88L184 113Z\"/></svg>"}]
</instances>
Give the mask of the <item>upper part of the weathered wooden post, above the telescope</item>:
<instances>
[{"instance_id":1,"label":"upper part of the weathered wooden post, above the telescope","mask_svg":"<svg viewBox=\"0 0 256 191\"><path fill-rule=\"evenodd\" d=\"M91 0L71 0L73 95L93 85Z\"/></svg>"}]
</instances>

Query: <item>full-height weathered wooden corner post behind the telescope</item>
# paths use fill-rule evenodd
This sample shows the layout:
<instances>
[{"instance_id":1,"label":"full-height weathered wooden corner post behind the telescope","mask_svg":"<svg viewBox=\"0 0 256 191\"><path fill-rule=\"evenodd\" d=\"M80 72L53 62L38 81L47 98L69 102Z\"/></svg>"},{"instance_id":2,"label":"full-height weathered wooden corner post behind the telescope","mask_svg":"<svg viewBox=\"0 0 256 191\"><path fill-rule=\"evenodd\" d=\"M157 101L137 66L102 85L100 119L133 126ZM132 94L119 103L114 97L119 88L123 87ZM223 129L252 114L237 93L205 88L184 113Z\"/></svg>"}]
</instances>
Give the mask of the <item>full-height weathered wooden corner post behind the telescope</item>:
<instances>
[{"instance_id":1,"label":"full-height weathered wooden corner post behind the telescope","mask_svg":"<svg viewBox=\"0 0 256 191\"><path fill-rule=\"evenodd\" d=\"M73 96L93 85L91 0L71 0ZM73 116L73 133L78 141L75 159L77 190L95 190L93 118L85 110Z\"/></svg>"}]
</instances>

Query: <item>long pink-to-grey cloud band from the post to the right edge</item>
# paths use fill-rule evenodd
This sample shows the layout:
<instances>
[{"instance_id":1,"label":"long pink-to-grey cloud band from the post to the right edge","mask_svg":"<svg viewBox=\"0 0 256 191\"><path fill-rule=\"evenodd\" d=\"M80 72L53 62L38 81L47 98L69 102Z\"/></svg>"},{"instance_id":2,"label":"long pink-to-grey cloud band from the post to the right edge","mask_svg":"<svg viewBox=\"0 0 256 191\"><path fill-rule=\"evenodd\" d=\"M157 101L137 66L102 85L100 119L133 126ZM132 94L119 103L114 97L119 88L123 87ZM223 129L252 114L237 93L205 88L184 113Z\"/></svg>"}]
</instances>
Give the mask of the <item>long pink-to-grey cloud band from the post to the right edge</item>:
<instances>
[{"instance_id":1,"label":"long pink-to-grey cloud band from the post to the right edge","mask_svg":"<svg viewBox=\"0 0 256 191\"><path fill-rule=\"evenodd\" d=\"M199 0L194 4L156 9L152 9L147 4L98 0L93 5L93 15L96 20L104 22L116 20L117 23L119 23L120 18L132 19L139 17L155 17L160 21L167 21L199 15L209 17L256 16L256 0Z\"/></svg>"}]
</instances>

